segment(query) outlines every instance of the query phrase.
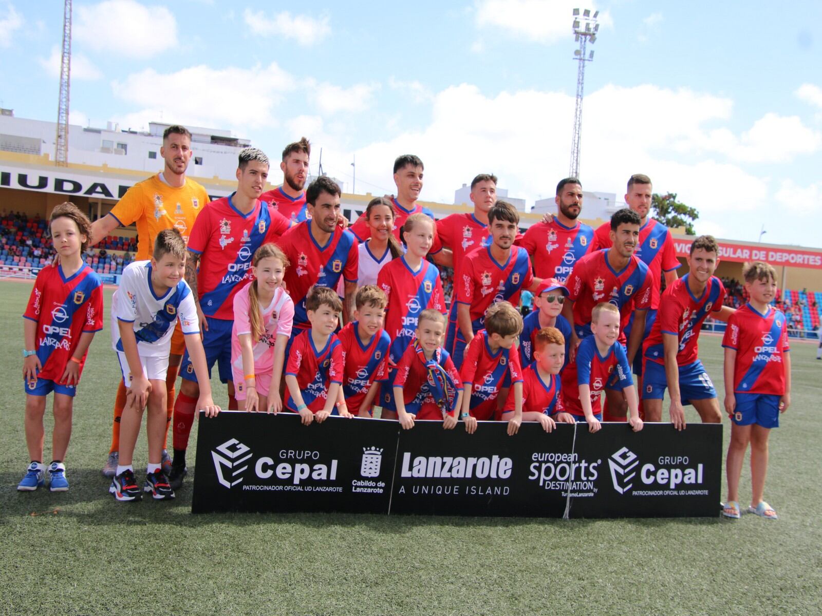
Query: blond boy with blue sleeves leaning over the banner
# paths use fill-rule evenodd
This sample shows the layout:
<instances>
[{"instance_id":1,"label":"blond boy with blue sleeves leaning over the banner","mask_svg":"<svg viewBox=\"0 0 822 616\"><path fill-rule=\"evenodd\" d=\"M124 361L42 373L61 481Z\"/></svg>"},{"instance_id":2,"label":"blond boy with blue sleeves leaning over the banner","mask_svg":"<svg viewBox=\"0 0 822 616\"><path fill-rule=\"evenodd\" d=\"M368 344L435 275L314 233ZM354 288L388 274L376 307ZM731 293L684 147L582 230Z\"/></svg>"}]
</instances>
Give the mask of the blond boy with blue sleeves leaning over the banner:
<instances>
[{"instance_id":1,"label":"blond boy with blue sleeves leaning over the banner","mask_svg":"<svg viewBox=\"0 0 822 616\"><path fill-rule=\"evenodd\" d=\"M628 402L628 423L642 430L639 399L630 372L625 347L619 342L619 308L610 302L601 302L591 311L591 334L583 338L576 352L577 385L580 406L584 416L576 421L587 421L589 430L597 432L602 426L599 399L606 385L621 388Z\"/></svg>"}]
</instances>

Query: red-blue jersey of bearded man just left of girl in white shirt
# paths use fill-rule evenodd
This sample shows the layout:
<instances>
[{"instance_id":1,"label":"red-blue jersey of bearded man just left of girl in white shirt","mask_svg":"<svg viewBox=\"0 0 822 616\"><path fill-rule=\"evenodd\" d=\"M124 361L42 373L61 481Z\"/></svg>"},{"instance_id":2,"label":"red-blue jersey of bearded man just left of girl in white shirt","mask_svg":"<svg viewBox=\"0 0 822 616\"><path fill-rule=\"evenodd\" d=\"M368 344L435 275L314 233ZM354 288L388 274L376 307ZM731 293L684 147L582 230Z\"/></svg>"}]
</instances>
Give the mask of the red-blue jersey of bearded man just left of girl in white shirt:
<instances>
[{"instance_id":1,"label":"red-blue jersey of bearded man just left of girl in white shirt","mask_svg":"<svg viewBox=\"0 0 822 616\"><path fill-rule=\"evenodd\" d=\"M349 283L357 282L359 248L353 233L335 227L325 246L320 246L311 228L311 220L299 223L278 242L289 258L283 279L294 302L295 329L311 327L306 296L313 285L336 289L340 278Z\"/></svg>"}]
</instances>

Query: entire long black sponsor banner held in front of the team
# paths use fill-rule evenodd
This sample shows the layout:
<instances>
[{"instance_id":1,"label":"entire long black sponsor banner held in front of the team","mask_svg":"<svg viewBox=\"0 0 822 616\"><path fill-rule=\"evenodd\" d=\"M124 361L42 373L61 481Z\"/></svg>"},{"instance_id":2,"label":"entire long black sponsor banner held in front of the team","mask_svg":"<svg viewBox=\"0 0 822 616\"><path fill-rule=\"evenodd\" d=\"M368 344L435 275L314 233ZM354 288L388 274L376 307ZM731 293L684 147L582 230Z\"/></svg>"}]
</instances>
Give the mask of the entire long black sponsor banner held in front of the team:
<instances>
[{"instance_id":1,"label":"entire long black sponsor banner held in front of the team","mask_svg":"<svg viewBox=\"0 0 822 616\"><path fill-rule=\"evenodd\" d=\"M200 418L192 513L351 512L506 517L715 517L722 425L502 422L462 426L291 413Z\"/></svg>"}]
</instances>

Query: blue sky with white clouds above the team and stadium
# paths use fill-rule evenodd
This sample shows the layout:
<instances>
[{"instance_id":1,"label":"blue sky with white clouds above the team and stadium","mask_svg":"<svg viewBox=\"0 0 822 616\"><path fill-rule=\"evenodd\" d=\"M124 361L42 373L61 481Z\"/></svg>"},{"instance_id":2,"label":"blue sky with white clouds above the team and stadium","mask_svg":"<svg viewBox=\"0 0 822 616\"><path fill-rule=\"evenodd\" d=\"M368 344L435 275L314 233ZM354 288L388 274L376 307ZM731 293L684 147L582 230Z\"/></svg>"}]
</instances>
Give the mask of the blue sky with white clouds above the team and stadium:
<instances>
[{"instance_id":1,"label":"blue sky with white clouds above the team and stadium","mask_svg":"<svg viewBox=\"0 0 822 616\"><path fill-rule=\"evenodd\" d=\"M350 182L356 156L357 191L375 194L413 152L423 199L495 172L533 203L569 168L575 6L75 2L72 122L228 128L275 156L306 135L312 171L322 147ZM822 2L584 6L601 23L584 187L621 196L644 172L700 211L697 232L755 241L764 224L764 241L822 246ZM57 115L61 28L62 2L0 0L0 100L18 117Z\"/></svg>"}]
</instances>

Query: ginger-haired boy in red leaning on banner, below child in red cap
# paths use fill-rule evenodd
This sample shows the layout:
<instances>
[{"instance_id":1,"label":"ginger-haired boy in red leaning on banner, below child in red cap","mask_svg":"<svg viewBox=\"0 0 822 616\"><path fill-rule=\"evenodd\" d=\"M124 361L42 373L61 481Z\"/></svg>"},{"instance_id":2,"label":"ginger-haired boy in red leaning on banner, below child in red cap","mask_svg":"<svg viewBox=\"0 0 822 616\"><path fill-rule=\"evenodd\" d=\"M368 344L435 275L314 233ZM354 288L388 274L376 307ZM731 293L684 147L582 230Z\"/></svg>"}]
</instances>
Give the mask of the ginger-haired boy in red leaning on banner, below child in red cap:
<instances>
[{"instance_id":1,"label":"ginger-haired boy in red leaning on banner, below child in red cap","mask_svg":"<svg viewBox=\"0 0 822 616\"><path fill-rule=\"evenodd\" d=\"M565 364L566 339L559 329L544 327L533 336L533 364L523 370L522 421L538 421L546 432L557 421L573 423L569 413L562 412L560 370ZM515 392L508 393L502 419L516 409Z\"/></svg>"}]
</instances>

